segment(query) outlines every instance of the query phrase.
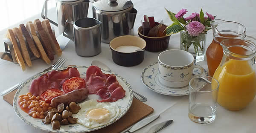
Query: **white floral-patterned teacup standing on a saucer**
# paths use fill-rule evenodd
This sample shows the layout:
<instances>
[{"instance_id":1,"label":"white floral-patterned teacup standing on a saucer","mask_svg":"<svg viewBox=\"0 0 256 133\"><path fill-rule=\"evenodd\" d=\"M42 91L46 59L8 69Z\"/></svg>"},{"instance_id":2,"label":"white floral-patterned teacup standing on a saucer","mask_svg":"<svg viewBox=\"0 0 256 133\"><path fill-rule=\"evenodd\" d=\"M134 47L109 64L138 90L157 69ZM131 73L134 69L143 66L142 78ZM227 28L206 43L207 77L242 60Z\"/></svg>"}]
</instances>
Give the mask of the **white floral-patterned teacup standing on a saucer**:
<instances>
[{"instance_id":1,"label":"white floral-patterned teacup standing on a saucer","mask_svg":"<svg viewBox=\"0 0 256 133\"><path fill-rule=\"evenodd\" d=\"M194 57L189 52L171 49L158 55L158 72L161 84L168 87L184 87L189 84L195 69ZM204 72L201 69L201 74Z\"/></svg>"}]
</instances>

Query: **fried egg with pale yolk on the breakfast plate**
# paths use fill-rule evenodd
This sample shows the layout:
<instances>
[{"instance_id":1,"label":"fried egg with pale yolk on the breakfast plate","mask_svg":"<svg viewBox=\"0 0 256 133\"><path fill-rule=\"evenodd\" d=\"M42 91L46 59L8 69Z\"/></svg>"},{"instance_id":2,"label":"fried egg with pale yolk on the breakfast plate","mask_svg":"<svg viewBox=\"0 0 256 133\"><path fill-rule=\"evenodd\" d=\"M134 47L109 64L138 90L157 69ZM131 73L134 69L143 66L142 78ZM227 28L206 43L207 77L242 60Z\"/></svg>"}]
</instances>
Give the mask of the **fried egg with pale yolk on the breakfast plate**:
<instances>
[{"instance_id":1,"label":"fried egg with pale yolk on the breakfast plate","mask_svg":"<svg viewBox=\"0 0 256 133\"><path fill-rule=\"evenodd\" d=\"M73 117L78 118L77 123L95 128L115 121L119 116L120 109L115 102L98 103L96 99L91 99L79 104L81 109Z\"/></svg>"}]
</instances>

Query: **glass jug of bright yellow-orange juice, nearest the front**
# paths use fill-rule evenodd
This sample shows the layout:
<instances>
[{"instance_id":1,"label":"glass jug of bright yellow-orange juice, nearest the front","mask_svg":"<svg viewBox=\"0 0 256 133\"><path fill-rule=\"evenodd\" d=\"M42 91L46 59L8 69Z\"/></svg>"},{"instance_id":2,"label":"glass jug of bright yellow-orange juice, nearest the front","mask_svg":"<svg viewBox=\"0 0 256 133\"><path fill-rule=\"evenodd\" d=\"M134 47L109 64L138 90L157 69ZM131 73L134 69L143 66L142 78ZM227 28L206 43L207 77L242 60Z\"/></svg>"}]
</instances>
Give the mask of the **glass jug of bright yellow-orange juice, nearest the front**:
<instances>
[{"instance_id":1,"label":"glass jug of bright yellow-orange juice, nearest the front","mask_svg":"<svg viewBox=\"0 0 256 133\"><path fill-rule=\"evenodd\" d=\"M256 94L256 45L241 39L227 39L220 44L224 55L213 75L219 81L218 103L227 110L241 110Z\"/></svg>"}]
</instances>

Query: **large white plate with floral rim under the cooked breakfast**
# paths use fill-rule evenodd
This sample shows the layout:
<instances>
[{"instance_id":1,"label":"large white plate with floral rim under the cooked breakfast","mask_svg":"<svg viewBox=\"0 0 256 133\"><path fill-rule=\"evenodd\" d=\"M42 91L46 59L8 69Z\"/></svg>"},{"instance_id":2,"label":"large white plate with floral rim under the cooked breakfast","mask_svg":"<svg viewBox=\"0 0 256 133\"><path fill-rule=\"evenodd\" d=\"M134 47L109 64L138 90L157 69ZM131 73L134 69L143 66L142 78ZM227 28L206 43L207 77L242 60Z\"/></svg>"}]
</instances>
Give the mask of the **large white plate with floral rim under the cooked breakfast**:
<instances>
[{"instance_id":1,"label":"large white plate with floral rim under the cooked breakfast","mask_svg":"<svg viewBox=\"0 0 256 133\"><path fill-rule=\"evenodd\" d=\"M86 70L87 70L88 67L80 66L80 67L76 67L76 68L80 72L80 75L83 76L83 75L86 74ZM67 69L67 67L62 67L62 68L59 68L59 69L56 69L56 70L62 70L62 69ZM49 70L47 72L50 72L50 71L51 70ZM133 93L132 93L132 89L131 89L130 84L124 78L122 78L120 75L117 75L116 73L111 72L110 70L102 69L102 72L104 72L104 73L116 75L117 81L119 82L119 84L125 90L125 97L115 101L116 104L118 105L119 109L120 109L119 116L114 121L111 121L108 124L102 125L100 127L92 128L92 129L84 127L80 124L69 124L69 125L61 125L60 130L52 130L51 124L44 124L42 122L42 119L34 119L33 117L29 116L27 113L25 113L23 110L20 109L20 106L18 105L18 102L17 102L17 99L18 99L19 95L26 94L26 93L29 92L29 86L30 86L32 80L35 79L35 78L38 78L39 76L41 76L41 75L43 75L47 72L42 72L40 74L34 75L32 78L29 78L29 80L27 80L17 90L17 93L15 94L14 99L13 99L13 108L14 108L15 113L17 114L17 116L22 121L24 121L25 123L29 124L32 127L35 127L35 128L40 129L40 130L47 131L47 132L52 132L52 133L87 133L87 132L90 132L90 131L101 129L103 127L106 127L106 126L114 123L115 121L120 119L122 116L124 116L125 113L131 107L131 103L133 101ZM98 99L98 98L99 98L98 95L93 94L93 95L89 95L89 97L87 99L90 100L90 99Z\"/></svg>"}]
</instances>

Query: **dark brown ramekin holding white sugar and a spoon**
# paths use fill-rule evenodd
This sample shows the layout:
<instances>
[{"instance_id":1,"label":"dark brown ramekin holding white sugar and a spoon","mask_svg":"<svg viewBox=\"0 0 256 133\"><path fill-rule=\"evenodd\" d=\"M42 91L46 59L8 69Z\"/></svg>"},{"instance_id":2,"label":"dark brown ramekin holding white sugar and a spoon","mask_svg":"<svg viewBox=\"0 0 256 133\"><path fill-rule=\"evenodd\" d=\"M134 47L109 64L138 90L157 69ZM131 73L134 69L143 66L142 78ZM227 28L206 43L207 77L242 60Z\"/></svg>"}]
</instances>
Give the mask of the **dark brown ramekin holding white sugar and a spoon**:
<instances>
[{"instance_id":1,"label":"dark brown ramekin holding white sugar and a spoon","mask_svg":"<svg viewBox=\"0 0 256 133\"><path fill-rule=\"evenodd\" d=\"M119 49L120 46L122 46L122 49ZM109 47L113 61L124 67L140 64L144 60L145 50L136 52L131 49L134 46L139 47L138 49L145 49L146 42L142 38L132 35L124 35L111 40Z\"/></svg>"}]
</instances>

